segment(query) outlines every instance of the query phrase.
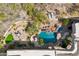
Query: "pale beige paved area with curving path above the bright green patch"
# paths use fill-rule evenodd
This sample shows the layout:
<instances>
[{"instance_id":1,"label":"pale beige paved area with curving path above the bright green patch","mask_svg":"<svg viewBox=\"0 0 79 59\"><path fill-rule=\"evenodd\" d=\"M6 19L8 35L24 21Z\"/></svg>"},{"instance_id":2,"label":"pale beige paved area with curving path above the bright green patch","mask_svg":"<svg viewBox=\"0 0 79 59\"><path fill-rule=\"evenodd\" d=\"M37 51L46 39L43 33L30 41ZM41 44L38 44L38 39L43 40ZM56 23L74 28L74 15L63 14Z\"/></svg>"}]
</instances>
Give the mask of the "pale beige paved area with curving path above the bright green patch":
<instances>
[{"instance_id":1,"label":"pale beige paved area with curving path above the bright green patch","mask_svg":"<svg viewBox=\"0 0 79 59\"><path fill-rule=\"evenodd\" d=\"M26 27L27 22L18 21L14 24L15 25L10 26L4 36L6 37L9 33L12 33L12 35L14 36L14 40L26 41L27 34L25 33L24 28Z\"/></svg>"}]
</instances>

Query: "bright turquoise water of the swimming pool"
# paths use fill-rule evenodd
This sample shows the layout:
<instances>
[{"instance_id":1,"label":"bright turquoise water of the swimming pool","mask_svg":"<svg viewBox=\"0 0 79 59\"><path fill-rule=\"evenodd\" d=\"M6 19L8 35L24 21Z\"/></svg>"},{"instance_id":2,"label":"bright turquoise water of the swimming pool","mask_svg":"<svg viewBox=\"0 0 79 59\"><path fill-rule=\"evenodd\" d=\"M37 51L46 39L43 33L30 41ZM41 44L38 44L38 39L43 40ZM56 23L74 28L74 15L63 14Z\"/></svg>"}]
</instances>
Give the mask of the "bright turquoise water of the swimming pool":
<instances>
[{"instance_id":1,"label":"bright turquoise water of the swimming pool","mask_svg":"<svg viewBox=\"0 0 79 59\"><path fill-rule=\"evenodd\" d=\"M55 43L57 35L55 32L40 32L39 38L43 39L45 43Z\"/></svg>"}]
</instances>

